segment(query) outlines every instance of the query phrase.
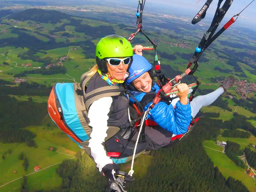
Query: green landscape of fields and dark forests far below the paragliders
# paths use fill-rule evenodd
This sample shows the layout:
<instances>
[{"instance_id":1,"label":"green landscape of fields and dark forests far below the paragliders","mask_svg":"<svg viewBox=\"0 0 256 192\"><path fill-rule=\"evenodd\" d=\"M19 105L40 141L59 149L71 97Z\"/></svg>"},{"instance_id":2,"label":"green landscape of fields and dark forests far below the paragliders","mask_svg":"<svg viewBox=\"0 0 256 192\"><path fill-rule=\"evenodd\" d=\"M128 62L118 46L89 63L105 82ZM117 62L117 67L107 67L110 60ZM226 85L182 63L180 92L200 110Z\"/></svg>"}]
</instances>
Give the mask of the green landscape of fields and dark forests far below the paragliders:
<instances>
[{"instance_id":1,"label":"green landscape of fields and dark forests far below the paragliders","mask_svg":"<svg viewBox=\"0 0 256 192\"><path fill-rule=\"evenodd\" d=\"M49 116L46 116L45 106L54 83L79 82L80 76L94 65L95 47L101 37L118 34L128 38L137 29L120 23L74 17L43 9L28 9L14 14L3 11L1 13L4 16L0 25L0 107L6 109L12 106L17 111L11 111L11 116L15 116L12 119L5 110L0 112L3 117L0 121L0 131L7 135L0 140L0 156L6 157L0 161L0 165L5 167L0 172L0 177L4 177L0 187L22 177L23 174L34 172L35 165L41 165L42 168L53 165L49 169L27 176L26 186L29 191L103 190L106 188L104 178L87 156L83 155L79 159L79 148L56 127ZM194 31L195 28L184 23L176 25L173 22L172 25L158 23L156 30L153 27L144 30L157 44L162 70L170 78L186 69L188 60L204 33L203 27L198 27ZM236 84L225 97L220 97L212 106L203 108L204 112L215 112L220 115L202 118L196 125L196 131L188 136L188 140L175 147L161 149L155 154L141 156L136 160L135 172L138 179L131 187L132 191L154 189L173 192L228 192L246 191L246 187L250 191L256 191L253 183L255 181L247 178L240 167L236 174L230 175L233 178L227 177L230 170L226 169L226 164L220 162L222 158L228 157L221 154L215 158L216 155L211 149L209 152L202 144L205 140L212 141L213 138L217 138L221 124L228 127L231 124L228 119L231 122L236 116L234 112L244 115L243 120L251 124L250 129L256 127L256 44L252 41L254 37L251 31L234 36L231 34L235 34L233 30L227 31L204 52L195 73L201 82L197 95L212 92L219 87L221 80L231 74L236 76ZM232 38L229 38L230 36ZM251 43L247 44L248 41ZM140 34L132 41L133 46L136 44L151 46ZM143 55L153 63L154 52L144 51ZM192 83L194 79L189 76L184 82ZM34 115L39 113L40 115ZM12 130L7 132L3 128ZM25 139L17 137L20 132L24 132ZM3 139L9 137L14 138L12 143ZM223 139L221 136L218 138ZM254 138L232 138L232 141L241 143L244 148L248 142L254 141ZM57 150L49 150L52 146ZM9 149L12 150L10 154ZM28 156L30 164L27 171L23 169L23 161L18 159L20 151L26 151ZM41 155L33 156L37 153ZM76 153L78 158L68 161ZM60 163L63 160L65 161ZM231 160L230 162L226 163L233 169L236 165ZM67 169L67 172L61 172L58 167ZM124 164L122 168L129 171L130 164ZM13 171L17 171L17 174ZM244 175L241 179L239 175L242 174ZM159 180L155 180L154 176ZM5 185L0 191L18 192L22 180ZM93 184L95 181L97 186ZM34 185L35 182L39 185Z\"/></svg>"}]
</instances>

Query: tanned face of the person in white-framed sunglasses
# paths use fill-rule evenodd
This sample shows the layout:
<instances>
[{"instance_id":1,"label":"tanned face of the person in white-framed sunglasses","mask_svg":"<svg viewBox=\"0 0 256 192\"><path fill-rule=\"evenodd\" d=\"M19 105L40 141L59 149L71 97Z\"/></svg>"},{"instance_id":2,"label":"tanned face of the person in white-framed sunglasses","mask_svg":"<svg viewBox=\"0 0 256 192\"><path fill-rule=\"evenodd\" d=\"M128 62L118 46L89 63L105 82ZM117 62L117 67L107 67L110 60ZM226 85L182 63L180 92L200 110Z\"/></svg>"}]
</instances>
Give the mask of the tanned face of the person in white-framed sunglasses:
<instances>
[{"instance_id":1,"label":"tanned face of the person in white-framed sunglasses","mask_svg":"<svg viewBox=\"0 0 256 192\"><path fill-rule=\"evenodd\" d=\"M123 59L123 57L120 59ZM123 62L121 62L120 65L118 66L112 66L112 65L109 65L107 61L107 68L108 68L109 75L118 81L124 79L128 66L129 65L124 65Z\"/></svg>"}]
</instances>

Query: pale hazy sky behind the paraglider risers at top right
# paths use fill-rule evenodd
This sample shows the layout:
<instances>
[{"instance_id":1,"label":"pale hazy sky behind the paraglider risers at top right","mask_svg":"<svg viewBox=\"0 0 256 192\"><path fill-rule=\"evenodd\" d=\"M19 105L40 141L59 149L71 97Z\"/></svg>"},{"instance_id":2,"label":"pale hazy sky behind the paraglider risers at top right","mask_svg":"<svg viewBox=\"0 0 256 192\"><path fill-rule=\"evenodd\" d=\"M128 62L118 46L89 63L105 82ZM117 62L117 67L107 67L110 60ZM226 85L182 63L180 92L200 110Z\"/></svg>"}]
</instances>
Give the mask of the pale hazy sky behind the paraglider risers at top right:
<instances>
[{"instance_id":1,"label":"pale hazy sky behind the paraglider risers at top right","mask_svg":"<svg viewBox=\"0 0 256 192\"><path fill-rule=\"evenodd\" d=\"M136 0L131 0L132 2L136 2ZM198 0L146 0L146 3L154 2L154 3L161 3L161 4L167 4L173 7L179 7L184 9L191 9L191 11L199 11L206 0L201 0L199 3L196 3ZM137 1L138 2L138 1ZM218 4L218 0L213 0L212 4L210 5L207 13L214 14L216 11L216 7ZM223 1L223 3L225 0ZM229 8L226 16L232 17L242 11L244 7L246 7L249 3L251 3L252 0L234 0L233 4ZM222 3L222 4L223 4ZM244 12L241 13L239 16L240 20L242 19L248 19L251 20L251 22L256 23L256 1L254 1L247 9L244 10ZM196 12L195 12L196 15Z\"/></svg>"}]
</instances>

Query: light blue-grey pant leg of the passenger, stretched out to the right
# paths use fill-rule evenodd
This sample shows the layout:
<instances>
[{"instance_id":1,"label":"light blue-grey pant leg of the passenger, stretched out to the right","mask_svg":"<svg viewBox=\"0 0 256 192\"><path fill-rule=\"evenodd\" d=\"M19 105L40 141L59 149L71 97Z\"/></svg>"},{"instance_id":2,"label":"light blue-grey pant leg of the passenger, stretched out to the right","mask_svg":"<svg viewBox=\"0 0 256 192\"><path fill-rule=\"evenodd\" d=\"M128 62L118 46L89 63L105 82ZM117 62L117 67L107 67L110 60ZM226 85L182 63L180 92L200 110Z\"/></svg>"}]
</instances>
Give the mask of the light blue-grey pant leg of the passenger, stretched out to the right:
<instances>
[{"instance_id":1,"label":"light blue-grey pant leg of the passenger, stretched out to the right","mask_svg":"<svg viewBox=\"0 0 256 192\"><path fill-rule=\"evenodd\" d=\"M199 110L204 107L211 105L213 101L218 99L218 97L224 92L224 89L222 87L219 87L214 92L211 92L207 95L200 95L195 97L191 102L191 116L194 118L196 114L199 112Z\"/></svg>"}]
</instances>

